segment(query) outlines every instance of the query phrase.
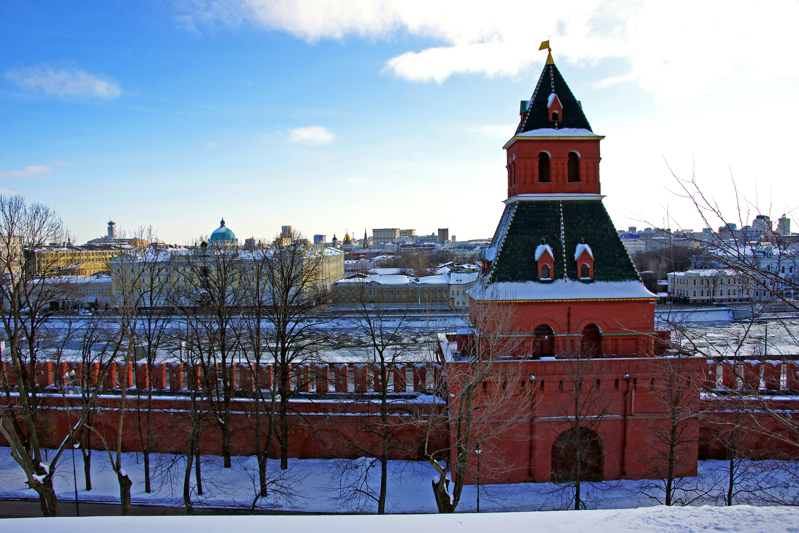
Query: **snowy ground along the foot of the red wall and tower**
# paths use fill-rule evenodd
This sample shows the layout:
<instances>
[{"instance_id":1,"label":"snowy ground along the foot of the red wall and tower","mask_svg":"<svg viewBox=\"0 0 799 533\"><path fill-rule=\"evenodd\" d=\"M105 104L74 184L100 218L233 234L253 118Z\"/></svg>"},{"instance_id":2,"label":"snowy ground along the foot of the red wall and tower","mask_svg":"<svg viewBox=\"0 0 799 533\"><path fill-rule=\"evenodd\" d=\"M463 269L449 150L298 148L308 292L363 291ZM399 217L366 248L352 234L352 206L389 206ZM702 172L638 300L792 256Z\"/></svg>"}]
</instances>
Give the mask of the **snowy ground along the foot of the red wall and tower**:
<instances>
[{"instance_id":1,"label":"snowy ground along the foot of the red wall and tower","mask_svg":"<svg viewBox=\"0 0 799 533\"><path fill-rule=\"evenodd\" d=\"M74 498L71 450L58 464L56 490L59 499ZM93 452L92 491L85 491L83 463L75 454L78 470L78 497L96 502L118 502L116 475L105 452ZM182 506L184 459L181 455L151 456L153 492L144 491L141 455L125 454L123 467L133 479L133 503ZM276 460L269 461L270 494L258 499L256 507L276 511L375 512L376 503L364 491L376 493L380 468L370 467L370 459L290 459L288 471L281 472ZM701 461L699 475L678 480L676 503L699 506L723 505L727 487L726 461ZM251 507L256 497L256 468L253 457L233 457L233 467L222 467L221 457L205 456L201 479L203 495L197 495L192 478L192 500L209 507ZM752 462L737 471L733 503L799 503L799 464ZM392 513L435 513L431 479L435 471L427 463L392 461L389 471L388 511ZM365 481L364 481L365 479ZM571 487L554 483L519 483L480 487L480 511L550 511L568 509ZM589 509L623 509L655 506L662 503L662 485L649 480L582 483L583 498ZM8 448L0 448L0 498L36 498L26 488L22 470L10 458ZM459 511L475 511L476 490L467 486ZM799 522L797 529L799 532Z\"/></svg>"}]
</instances>

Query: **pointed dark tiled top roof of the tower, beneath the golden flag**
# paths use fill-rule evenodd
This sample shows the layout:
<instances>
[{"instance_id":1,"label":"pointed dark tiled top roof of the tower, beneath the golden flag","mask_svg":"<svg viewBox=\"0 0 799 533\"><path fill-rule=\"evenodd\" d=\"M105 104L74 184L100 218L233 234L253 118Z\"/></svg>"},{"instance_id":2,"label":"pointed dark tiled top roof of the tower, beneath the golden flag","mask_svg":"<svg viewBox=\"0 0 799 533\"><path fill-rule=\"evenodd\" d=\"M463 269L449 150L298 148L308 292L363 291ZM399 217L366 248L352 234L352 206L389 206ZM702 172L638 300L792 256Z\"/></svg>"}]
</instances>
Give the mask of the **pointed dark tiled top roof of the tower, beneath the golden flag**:
<instances>
[{"instance_id":1,"label":"pointed dark tiled top roof of the tower, beneath the golden flag","mask_svg":"<svg viewBox=\"0 0 799 533\"><path fill-rule=\"evenodd\" d=\"M562 120L558 121L557 125L555 121L549 119L547 111L551 93L558 95L558 99L563 106ZM544 66L541 78L539 78L539 84L535 86L535 92L530 100L531 104L527 110L527 118L519 124L516 133L523 133L531 129L555 127L582 128L593 131L586 115L582 113L582 106L578 103L574 94L571 93L571 89L566 85L566 80L563 79L558 67L554 64Z\"/></svg>"}]
</instances>

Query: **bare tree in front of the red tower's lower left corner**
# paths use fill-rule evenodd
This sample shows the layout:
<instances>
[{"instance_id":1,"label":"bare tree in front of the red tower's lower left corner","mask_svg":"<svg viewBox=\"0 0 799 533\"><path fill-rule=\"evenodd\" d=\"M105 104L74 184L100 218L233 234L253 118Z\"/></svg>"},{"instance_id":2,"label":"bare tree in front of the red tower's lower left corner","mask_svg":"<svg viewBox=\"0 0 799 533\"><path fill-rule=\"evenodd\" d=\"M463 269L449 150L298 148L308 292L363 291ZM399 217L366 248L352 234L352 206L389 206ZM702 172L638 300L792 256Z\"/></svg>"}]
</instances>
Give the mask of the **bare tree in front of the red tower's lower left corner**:
<instances>
[{"instance_id":1,"label":"bare tree in front of the red tower's lower left corner","mask_svg":"<svg viewBox=\"0 0 799 533\"><path fill-rule=\"evenodd\" d=\"M494 447L529 438L519 428L531 424L535 401L533 387L523 374L523 344L512 334L517 320L512 309L480 302L465 320L471 326L465 338L449 340L441 334L436 346L433 364L446 365L446 376L435 381L433 392L446 399L447 411L431 401L429 412L415 416L416 424L425 431L423 458L438 472L432 488L441 513L455 512L467 476L475 478L470 459L475 457L477 444L486 455L499 456L499 452L491 453ZM457 343L455 351L450 342ZM439 440L440 433L447 431L448 442ZM499 476L518 467L486 463L483 474Z\"/></svg>"}]
</instances>

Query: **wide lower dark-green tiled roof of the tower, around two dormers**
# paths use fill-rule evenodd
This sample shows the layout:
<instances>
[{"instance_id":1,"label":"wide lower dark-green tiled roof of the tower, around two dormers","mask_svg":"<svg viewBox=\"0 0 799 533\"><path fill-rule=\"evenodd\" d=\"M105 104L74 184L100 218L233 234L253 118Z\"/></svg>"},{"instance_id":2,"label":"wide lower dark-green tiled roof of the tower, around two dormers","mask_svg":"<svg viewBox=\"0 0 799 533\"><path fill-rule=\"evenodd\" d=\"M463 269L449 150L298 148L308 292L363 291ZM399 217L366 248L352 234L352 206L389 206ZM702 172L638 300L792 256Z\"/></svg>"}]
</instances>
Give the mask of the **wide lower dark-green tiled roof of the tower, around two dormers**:
<instances>
[{"instance_id":1,"label":"wide lower dark-green tiled roof of the tower, around two dormers","mask_svg":"<svg viewBox=\"0 0 799 533\"><path fill-rule=\"evenodd\" d=\"M633 261L614 229L602 201L518 201L505 207L510 218L507 229L502 222L495 241L499 245L491 265L491 283L501 281L537 281L538 265L535 249L544 239L555 253L556 280L563 277L563 249L560 238L560 209L563 209L564 241L566 242L566 275L578 280L574 250L580 243L594 253L594 280L640 280ZM503 221L506 221L503 214ZM504 233L504 235L499 235Z\"/></svg>"}]
</instances>

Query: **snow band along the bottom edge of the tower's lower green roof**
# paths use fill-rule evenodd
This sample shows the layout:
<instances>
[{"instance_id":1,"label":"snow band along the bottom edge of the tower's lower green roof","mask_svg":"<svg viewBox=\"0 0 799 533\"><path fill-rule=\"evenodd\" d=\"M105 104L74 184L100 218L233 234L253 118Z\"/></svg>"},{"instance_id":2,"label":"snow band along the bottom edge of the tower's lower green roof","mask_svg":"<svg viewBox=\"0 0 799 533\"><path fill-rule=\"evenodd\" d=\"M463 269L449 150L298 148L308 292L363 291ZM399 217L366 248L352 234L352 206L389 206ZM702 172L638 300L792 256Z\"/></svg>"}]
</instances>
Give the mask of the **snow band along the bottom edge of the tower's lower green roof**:
<instances>
[{"instance_id":1,"label":"snow band along the bottom edge of the tower's lower green roof","mask_svg":"<svg viewBox=\"0 0 799 533\"><path fill-rule=\"evenodd\" d=\"M469 289L475 300L617 300L656 298L640 281L504 281Z\"/></svg>"}]
</instances>

